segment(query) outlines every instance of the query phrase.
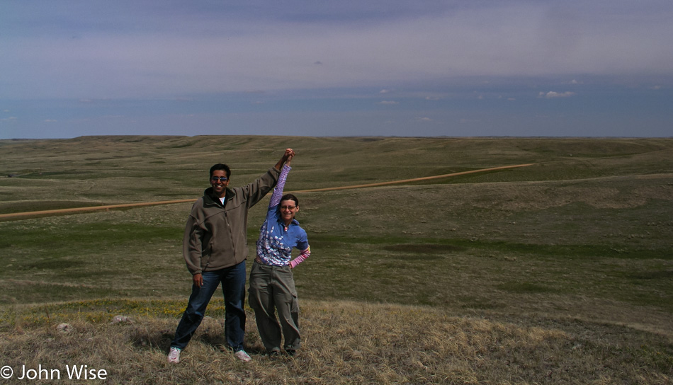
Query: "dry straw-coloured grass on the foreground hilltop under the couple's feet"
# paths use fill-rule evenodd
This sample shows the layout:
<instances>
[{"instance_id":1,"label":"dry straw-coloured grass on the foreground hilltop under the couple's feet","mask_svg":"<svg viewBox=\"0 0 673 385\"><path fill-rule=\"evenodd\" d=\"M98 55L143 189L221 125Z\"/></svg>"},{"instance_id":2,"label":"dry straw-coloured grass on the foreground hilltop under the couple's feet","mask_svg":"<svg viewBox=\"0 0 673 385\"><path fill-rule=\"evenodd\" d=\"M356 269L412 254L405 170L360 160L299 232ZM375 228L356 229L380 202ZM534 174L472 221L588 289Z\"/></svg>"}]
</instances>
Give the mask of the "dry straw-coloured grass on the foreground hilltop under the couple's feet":
<instances>
[{"instance_id":1,"label":"dry straw-coloured grass on the foreground hilltop under the couple's feet","mask_svg":"<svg viewBox=\"0 0 673 385\"><path fill-rule=\"evenodd\" d=\"M175 302L179 304L179 302ZM151 304L149 304L151 306ZM215 307L221 301L215 301ZM249 310L249 309L248 309ZM272 358L249 312L247 350L238 362L222 347L222 323L205 318L180 364L166 362L176 318L132 316L91 321L74 313L72 330L31 323L2 333L3 365L105 369L111 384L667 384L666 353L647 333L598 335L576 320L539 318L535 326L458 316L436 308L353 301L302 301L297 357ZM63 320L60 320L63 321ZM654 349L654 350L653 350ZM668 352L670 353L670 352ZM670 357L670 356L668 356ZM655 364L653 364L655 363ZM656 364L660 364L657 367ZM26 381L26 380L23 380ZM21 383L14 379L4 383Z\"/></svg>"}]
</instances>

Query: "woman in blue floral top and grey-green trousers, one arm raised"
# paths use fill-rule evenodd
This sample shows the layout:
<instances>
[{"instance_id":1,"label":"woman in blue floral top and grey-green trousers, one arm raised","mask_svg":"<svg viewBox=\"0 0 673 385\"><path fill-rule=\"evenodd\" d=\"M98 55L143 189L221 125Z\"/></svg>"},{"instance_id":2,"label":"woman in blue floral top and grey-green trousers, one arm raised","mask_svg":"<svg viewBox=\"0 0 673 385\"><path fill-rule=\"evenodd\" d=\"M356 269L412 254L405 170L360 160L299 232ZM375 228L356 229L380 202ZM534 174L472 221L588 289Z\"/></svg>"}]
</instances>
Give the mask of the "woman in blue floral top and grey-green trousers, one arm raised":
<instances>
[{"instance_id":1,"label":"woman in blue floral top and grey-green trousers, one arm raised","mask_svg":"<svg viewBox=\"0 0 673 385\"><path fill-rule=\"evenodd\" d=\"M268 203L266 220L259 230L257 257L250 272L249 304L255 311L257 329L268 355L281 353L281 331L288 355L295 355L300 345L299 304L292 269L309 257L311 249L306 231L295 219L299 200L292 194L283 195L293 156L294 152L285 162ZM290 255L293 248L300 250L295 259Z\"/></svg>"}]
</instances>

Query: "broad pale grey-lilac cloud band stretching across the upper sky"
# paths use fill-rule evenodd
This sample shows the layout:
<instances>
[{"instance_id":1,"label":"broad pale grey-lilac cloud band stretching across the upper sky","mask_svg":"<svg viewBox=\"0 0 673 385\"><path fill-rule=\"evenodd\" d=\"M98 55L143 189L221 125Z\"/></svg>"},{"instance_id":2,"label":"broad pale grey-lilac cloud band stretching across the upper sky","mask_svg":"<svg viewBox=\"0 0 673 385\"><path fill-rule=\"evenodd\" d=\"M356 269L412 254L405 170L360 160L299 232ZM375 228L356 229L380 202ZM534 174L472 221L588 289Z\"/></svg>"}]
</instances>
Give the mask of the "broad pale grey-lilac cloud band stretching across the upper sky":
<instances>
[{"instance_id":1,"label":"broad pale grey-lilac cloud band stretching across the upper sky","mask_svg":"<svg viewBox=\"0 0 673 385\"><path fill-rule=\"evenodd\" d=\"M673 76L673 23L662 17L673 12L669 2L637 9L626 0L402 3L384 15L376 3L349 3L366 13L315 4L302 13L298 4L283 11L268 1L280 13L273 16L217 3L208 12L185 5L150 12L140 1L142 9L130 12L128 2L109 2L106 12L89 7L86 17L61 18L50 15L53 6L26 6L30 12L13 17L3 36L10 59L0 62L0 73L16 80L0 97L146 98L469 76ZM50 23L26 22L33 20ZM0 16L0 25L6 21Z\"/></svg>"}]
</instances>

